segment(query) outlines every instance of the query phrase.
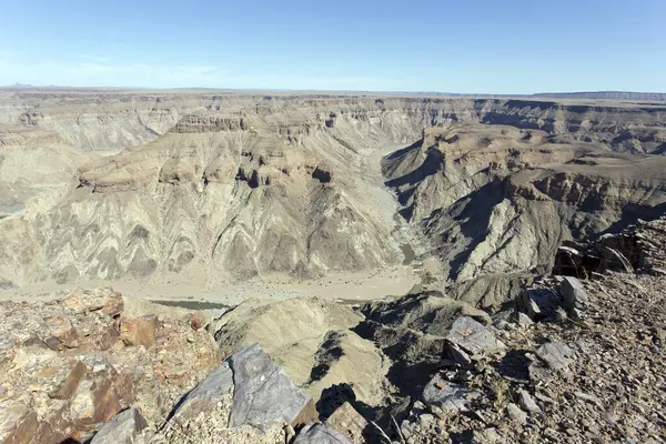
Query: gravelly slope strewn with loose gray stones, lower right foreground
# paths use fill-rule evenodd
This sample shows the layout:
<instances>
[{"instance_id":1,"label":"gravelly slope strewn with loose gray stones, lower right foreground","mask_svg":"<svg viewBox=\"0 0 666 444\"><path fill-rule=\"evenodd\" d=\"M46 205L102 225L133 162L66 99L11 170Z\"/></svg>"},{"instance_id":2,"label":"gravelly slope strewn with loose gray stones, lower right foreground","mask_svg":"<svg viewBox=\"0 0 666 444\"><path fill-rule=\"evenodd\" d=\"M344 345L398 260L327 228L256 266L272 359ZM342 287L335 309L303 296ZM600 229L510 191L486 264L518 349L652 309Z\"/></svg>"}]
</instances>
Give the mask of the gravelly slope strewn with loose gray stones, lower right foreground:
<instances>
[{"instance_id":1,"label":"gravelly slope strewn with loose gray stones, lower right foreground","mask_svg":"<svg viewBox=\"0 0 666 444\"><path fill-rule=\"evenodd\" d=\"M662 255L654 249L666 241L655 230L662 223L622 235L640 239L649 230L649 242L638 246L647 264ZM622 258L638 252L630 245L618 251ZM531 284L525 291L541 291L538 303L549 310L531 321L524 293L511 316L496 316L490 327L504 344L501 353L442 361L412 397L401 424L406 442L663 442L664 276L650 266L636 270ZM465 330L464 341L474 337L474 329Z\"/></svg>"}]
</instances>

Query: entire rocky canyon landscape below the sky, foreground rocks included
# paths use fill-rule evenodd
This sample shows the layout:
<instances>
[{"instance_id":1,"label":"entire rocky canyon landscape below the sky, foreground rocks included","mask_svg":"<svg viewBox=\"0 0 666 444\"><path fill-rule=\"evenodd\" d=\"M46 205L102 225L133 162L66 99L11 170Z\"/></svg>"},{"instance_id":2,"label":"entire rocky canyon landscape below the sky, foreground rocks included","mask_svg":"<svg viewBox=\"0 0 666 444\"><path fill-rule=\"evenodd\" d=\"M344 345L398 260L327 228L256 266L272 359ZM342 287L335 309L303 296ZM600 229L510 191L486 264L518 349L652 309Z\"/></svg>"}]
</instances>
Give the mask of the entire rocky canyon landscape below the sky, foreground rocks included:
<instances>
[{"instance_id":1,"label":"entire rocky canyon landscape below the sky, foreground rocks included","mask_svg":"<svg viewBox=\"0 0 666 444\"><path fill-rule=\"evenodd\" d=\"M0 89L0 440L666 438L658 99Z\"/></svg>"}]
</instances>

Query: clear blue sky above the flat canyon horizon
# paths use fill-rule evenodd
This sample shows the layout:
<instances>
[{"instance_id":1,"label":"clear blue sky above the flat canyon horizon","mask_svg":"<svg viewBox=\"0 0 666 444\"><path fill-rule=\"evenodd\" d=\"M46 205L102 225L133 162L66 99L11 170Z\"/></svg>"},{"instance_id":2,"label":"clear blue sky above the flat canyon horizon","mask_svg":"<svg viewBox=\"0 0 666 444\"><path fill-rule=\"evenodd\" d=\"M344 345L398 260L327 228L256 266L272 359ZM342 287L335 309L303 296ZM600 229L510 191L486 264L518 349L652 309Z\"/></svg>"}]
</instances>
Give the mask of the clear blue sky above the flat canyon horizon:
<instances>
[{"instance_id":1,"label":"clear blue sky above the flat canyon horizon","mask_svg":"<svg viewBox=\"0 0 666 444\"><path fill-rule=\"evenodd\" d=\"M666 0L0 0L0 84L666 92Z\"/></svg>"}]
</instances>

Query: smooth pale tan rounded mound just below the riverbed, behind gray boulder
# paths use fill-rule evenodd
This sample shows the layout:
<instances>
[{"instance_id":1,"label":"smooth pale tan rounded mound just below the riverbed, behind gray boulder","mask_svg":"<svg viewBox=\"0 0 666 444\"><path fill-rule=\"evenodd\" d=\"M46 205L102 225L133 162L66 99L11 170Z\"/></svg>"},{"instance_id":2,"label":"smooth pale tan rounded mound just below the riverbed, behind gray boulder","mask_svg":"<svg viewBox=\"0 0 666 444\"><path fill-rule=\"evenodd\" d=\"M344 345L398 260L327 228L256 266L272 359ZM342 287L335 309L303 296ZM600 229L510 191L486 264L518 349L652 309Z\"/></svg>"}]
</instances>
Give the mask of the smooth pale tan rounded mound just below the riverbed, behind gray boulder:
<instances>
[{"instance_id":1,"label":"smooth pale tan rounded mound just below the riverbed, behind gray boulder","mask_svg":"<svg viewBox=\"0 0 666 444\"><path fill-rule=\"evenodd\" d=\"M262 303L249 300L213 321L209 329L224 354L260 343L291 380L319 401L322 391L351 384L357 400L383 401L387 357L351 331L363 316L316 297Z\"/></svg>"}]
</instances>

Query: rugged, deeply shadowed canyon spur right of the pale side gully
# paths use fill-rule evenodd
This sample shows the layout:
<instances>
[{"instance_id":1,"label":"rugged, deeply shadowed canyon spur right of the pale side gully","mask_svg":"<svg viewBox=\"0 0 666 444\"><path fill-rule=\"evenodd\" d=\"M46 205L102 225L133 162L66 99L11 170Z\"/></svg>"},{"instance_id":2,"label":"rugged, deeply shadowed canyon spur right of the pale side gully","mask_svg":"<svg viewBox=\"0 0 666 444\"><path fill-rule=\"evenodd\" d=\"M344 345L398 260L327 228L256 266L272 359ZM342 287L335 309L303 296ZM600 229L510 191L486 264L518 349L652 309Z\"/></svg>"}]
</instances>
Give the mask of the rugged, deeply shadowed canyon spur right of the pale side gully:
<instances>
[{"instance_id":1,"label":"rugged, deeply shadowed canyon spur right of the pale side gully","mask_svg":"<svg viewBox=\"0 0 666 444\"><path fill-rule=\"evenodd\" d=\"M466 124L427 129L383 161L402 214L421 224L453 281L543 272L563 240L659 215L664 167L660 155Z\"/></svg>"}]
</instances>

